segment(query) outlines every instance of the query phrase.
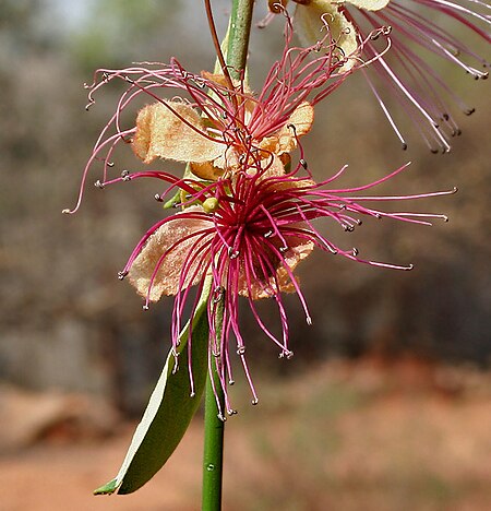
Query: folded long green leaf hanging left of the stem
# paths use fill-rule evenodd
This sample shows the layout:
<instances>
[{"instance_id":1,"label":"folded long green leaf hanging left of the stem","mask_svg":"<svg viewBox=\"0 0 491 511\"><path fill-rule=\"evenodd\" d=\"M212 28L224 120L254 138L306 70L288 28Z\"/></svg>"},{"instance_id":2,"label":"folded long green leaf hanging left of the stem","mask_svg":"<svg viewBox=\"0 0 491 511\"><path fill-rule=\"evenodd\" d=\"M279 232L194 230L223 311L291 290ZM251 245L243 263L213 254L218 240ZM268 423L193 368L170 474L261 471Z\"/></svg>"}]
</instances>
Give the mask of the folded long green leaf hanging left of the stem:
<instances>
[{"instance_id":1,"label":"folded long green leaf hanging left of the stem","mask_svg":"<svg viewBox=\"0 0 491 511\"><path fill-rule=\"evenodd\" d=\"M131 494L147 483L178 447L200 405L207 372L208 321L206 302L209 281L205 283L192 320L191 360L194 396L190 395L188 371L189 322L180 335L179 367L172 350L151 395L141 423L133 435L121 468L112 480L97 488L94 495Z\"/></svg>"}]
</instances>

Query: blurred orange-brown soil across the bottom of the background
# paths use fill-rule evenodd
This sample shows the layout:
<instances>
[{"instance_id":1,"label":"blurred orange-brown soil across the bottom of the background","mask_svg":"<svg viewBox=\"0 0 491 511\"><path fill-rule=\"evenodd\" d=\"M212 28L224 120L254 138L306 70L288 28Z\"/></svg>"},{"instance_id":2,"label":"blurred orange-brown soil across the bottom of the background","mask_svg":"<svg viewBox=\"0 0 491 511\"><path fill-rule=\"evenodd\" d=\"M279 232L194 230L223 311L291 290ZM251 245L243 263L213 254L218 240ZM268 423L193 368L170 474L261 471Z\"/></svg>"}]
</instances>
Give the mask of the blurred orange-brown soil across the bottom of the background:
<instances>
[{"instance_id":1,"label":"blurred orange-brown soil across the bottom of the background","mask_svg":"<svg viewBox=\"0 0 491 511\"><path fill-rule=\"evenodd\" d=\"M225 510L491 509L491 373L366 358L259 380L260 406L240 384L232 394ZM104 440L53 426L0 459L0 509L197 510L200 418L153 480L111 497L91 491L118 471L134 425Z\"/></svg>"}]
</instances>

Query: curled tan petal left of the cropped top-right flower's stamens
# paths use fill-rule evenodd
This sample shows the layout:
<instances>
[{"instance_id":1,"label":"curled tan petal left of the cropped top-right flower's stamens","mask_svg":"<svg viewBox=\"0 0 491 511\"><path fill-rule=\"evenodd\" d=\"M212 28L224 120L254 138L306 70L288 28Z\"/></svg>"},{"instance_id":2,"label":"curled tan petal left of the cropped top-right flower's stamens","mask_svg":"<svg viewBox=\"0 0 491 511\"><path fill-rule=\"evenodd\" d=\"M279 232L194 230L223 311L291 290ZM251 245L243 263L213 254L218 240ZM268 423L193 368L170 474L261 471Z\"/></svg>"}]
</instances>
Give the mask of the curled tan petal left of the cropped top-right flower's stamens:
<instances>
[{"instance_id":1,"label":"curled tan petal left of the cropped top-right flower's stamens","mask_svg":"<svg viewBox=\"0 0 491 511\"><path fill-rule=\"evenodd\" d=\"M314 46L325 37L325 23L328 24L331 36L336 46L342 49L344 57L352 55L358 48L357 33L335 4L330 0L312 0L308 5L297 5L295 26L304 46ZM354 64L354 59L349 59L340 71L349 71Z\"/></svg>"}]
</instances>

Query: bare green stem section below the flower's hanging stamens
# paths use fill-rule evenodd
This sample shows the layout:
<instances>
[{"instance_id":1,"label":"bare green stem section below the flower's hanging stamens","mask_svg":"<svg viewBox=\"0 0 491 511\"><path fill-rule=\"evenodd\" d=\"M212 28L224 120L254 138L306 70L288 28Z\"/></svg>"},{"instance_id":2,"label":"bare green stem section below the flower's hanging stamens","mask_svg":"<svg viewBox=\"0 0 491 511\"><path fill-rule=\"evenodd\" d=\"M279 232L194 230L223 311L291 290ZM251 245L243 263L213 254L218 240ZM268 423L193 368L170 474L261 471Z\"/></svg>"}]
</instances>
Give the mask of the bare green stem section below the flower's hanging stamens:
<instances>
[{"instance_id":1,"label":"bare green stem section below the flower's hanging stamens","mask_svg":"<svg viewBox=\"0 0 491 511\"><path fill-rule=\"evenodd\" d=\"M214 360L212 360L214 361ZM214 365L213 365L214 366ZM215 392L218 394L220 408L224 409L224 391L213 367ZM205 438L203 455L203 511L219 511L221 509L221 472L224 462L224 429L225 423L218 417L212 379L208 375L205 390Z\"/></svg>"}]
</instances>

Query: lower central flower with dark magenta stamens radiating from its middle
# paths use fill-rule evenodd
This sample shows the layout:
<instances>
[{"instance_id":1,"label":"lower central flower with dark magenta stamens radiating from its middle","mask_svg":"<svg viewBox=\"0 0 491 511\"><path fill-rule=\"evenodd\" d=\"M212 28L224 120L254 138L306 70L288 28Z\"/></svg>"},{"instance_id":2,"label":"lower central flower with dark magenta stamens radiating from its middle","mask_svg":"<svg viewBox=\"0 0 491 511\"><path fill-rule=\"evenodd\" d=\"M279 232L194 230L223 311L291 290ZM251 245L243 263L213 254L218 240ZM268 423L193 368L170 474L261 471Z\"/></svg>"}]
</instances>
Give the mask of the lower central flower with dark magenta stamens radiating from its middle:
<instances>
[{"instance_id":1,"label":"lower central flower with dark magenta stamens radiating from its middle","mask_svg":"<svg viewBox=\"0 0 491 511\"><path fill-rule=\"evenodd\" d=\"M233 350L244 368L253 403L258 401L246 359L246 341L241 335L239 297L247 300L258 325L276 343L280 357L289 358L292 352L288 346L288 318L283 293L297 294L310 324L307 300L294 271L314 248L369 265L398 270L412 268L361 259L357 249L346 250L330 240L314 226L315 219L330 218L346 231L361 224L359 216L423 225L431 225L432 218L446 219L439 214L387 213L366 204L369 201L398 201L452 193L406 197L359 194L396 176L406 167L374 182L348 189L330 188L346 167L320 183L313 181L306 167L306 162L301 159L290 174L271 175L259 162L252 171L244 163L233 175L213 182L179 179L159 170L136 171L105 183L109 186L151 177L170 185L165 194L172 194L176 188L185 193L185 201L179 204L181 210L163 218L145 233L119 275L120 278L128 276L143 296L144 308L148 308L151 301L157 301L163 295L176 297L171 328L175 345L179 343L184 311L189 310L191 304L192 317L197 304L192 298L193 286L199 296L206 278L212 278L214 290L207 298L208 318L213 319L217 301L223 300L224 324L218 338L215 326L212 328L209 354L217 360L226 394L226 408L230 414L233 411L227 384L233 380L230 360ZM163 200L164 195L157 197ZM279 318L279 335L261 317L254 304L261 298L274 299ZM192 342L192 336L189 342Z\"/></svg>"}]
</instances>

